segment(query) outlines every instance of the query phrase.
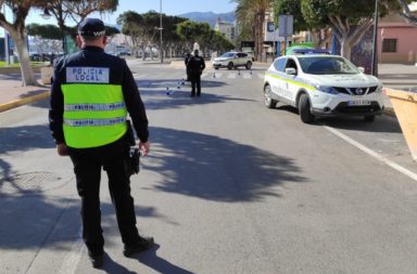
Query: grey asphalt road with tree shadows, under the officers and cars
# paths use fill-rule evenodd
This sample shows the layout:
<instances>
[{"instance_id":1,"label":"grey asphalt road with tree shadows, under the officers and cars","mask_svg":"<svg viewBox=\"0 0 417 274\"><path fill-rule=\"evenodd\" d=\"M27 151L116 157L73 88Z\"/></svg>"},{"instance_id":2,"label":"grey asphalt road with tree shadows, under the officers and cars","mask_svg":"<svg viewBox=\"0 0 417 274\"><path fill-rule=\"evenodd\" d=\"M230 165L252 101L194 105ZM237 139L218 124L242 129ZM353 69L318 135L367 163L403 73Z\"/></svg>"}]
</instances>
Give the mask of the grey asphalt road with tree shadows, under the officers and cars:
<instances>
[{"instance_id":1,"label":"grey asphalt road with tree shadows, under the officers and cars","mask_svg":"<svg viewBox=\"0 0 417 274\"><path fill-rule=\"evenodd\" d=\"M153 144L132 196L156 247L122 256L103 174L106 258L91 269L45 101L0 114L0 273L417 272L417 167L395 119L304 125L264 107L256 67L207 70L192 99L184 69L131 68Z\"/></svg>"}]
</instances>

